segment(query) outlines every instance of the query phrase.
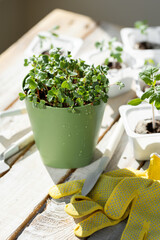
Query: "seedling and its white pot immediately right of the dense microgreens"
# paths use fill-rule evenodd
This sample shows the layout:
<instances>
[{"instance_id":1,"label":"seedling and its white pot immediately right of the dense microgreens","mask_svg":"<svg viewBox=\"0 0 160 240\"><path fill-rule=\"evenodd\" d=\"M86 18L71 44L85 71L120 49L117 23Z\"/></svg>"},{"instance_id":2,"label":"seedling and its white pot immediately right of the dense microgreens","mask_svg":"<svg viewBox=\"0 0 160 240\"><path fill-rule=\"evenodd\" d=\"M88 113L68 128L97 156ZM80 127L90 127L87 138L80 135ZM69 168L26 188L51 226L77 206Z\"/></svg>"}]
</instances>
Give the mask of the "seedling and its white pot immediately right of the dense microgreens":
<instances>
[{"instance_id":1,"label":"seedling and its white pot immediately right of the dense microgreens","mask_svg":"<svg viewBox=\"0 0 160 240\"><path fill-rule=\"evenodd\" d=\"M96 48L100 50L90 56L91 63L107 65L109 68L108 78L110 81L109 97L116 97L130 90L133 81L133 69L135 60L123 51L123 46L116 38L109 42L104 40L95 43ZM118 86L121 91L119 91Z\"/></svg>"}]
</instances>

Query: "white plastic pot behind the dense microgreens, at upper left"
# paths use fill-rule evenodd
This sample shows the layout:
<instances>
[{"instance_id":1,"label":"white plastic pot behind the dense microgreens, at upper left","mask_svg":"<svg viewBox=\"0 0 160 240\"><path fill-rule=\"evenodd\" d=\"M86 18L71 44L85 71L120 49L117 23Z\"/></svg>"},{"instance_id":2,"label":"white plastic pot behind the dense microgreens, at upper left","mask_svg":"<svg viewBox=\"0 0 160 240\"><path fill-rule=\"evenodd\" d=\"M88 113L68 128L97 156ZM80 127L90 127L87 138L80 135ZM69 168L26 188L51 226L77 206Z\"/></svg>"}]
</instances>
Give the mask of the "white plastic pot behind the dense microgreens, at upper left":
<instances>
[{"instance_id":1,"label":"white plastic pot behind the dense microgreens, at upper left","mask_svg":"<svg viewBox=\"0 0 160 240\"><path fill-rule=\"evenodd\" d=\"M46 39L43 40L43 46L40 44L40 38L38 35L46 37ZM39 55L42 52L49 50L51 44L53 44L54 47L62 48L64 54L66 54L67 51L71 51L72 56L75 57L83 44L83 40L80 38L68 37L62 34L59 34L58 37L55 37L50 32L46 31L39 32L38 35L33 38L27 50L25 51L25 55L27 57Z\"/></svg>"}]
</instances>

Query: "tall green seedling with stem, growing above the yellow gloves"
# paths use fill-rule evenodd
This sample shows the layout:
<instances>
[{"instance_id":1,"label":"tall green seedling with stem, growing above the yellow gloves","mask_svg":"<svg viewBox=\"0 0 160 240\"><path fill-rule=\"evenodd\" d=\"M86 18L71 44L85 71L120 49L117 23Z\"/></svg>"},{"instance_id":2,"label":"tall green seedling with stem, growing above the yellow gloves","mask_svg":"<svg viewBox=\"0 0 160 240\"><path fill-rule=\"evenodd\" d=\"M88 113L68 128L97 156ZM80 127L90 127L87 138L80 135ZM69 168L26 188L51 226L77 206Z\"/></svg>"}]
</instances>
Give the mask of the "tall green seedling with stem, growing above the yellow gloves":
<instances>
[{"instance_id":1,"label":"tall green seedling with stem, growing above the yellow gloves","mask_svg":"<svg viewBox=\"0 0 160 240\"><path fill-rule=\"evenodd\" d=\"M146 66L146 68L139 73L139 77L149 86L149 89L141 96L128 102L128 104L136 106L148 99L148 103L152 106L152 127L155 129L155 113L154 107L160 110L160 85L156 85L160 80L159 68L153 66Z\"/></svg>"}]
</instances>

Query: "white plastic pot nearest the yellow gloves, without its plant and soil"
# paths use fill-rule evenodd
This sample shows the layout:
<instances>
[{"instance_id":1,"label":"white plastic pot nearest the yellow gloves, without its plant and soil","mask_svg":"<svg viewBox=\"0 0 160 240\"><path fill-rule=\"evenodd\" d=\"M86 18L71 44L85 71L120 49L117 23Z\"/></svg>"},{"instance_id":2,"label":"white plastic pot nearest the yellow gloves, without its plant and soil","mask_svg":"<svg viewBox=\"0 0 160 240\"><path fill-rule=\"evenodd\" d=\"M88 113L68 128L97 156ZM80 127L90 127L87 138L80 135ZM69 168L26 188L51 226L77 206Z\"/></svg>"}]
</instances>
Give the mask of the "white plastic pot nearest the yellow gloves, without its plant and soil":
<instances>
[{"instance_id":1,"label":"white plastic pot nearest the yellow gloves, without its plant and soil","mask_svg":"<svg viewBox=\"0 0 160 240\"><path fill-rule=\"evenodd\" d=\"M151 119L152 109L148 104L139 106L122 105L119 108L125 131L133 144L136 160L149 160L154 152L160 154L160 133L138 134L135 127L140 120ZM160 113L155 109L155 118L160 119Z\"/></svg>"}]
</instances>

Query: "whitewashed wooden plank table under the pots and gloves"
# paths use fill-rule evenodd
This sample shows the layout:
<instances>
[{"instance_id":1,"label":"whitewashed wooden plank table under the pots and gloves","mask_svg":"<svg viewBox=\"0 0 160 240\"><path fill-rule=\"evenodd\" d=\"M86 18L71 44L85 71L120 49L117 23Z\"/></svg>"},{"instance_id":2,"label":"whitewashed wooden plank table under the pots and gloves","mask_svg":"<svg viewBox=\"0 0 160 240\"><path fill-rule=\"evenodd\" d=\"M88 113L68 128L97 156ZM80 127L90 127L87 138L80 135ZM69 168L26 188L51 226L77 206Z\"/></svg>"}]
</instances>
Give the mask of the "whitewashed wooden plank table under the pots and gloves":
<instances>
[{"instance_id":1,"label":"whitewashed wooden plank table under the pots and gloves","mask_svg":"<svg viewBox=\"0 0 160 240\"><path fill-rule=\"evenodd\" d=\"M22 79L27 71L23 67L24 51L39 31L49 30L55 25L60 25L59 33L84 40L78 57L93 50L95 41L119 36L118 27L105 23L97 25L86 16L54 10L0 56L0 110L24 106L24 103L18 100ZM101 153L105 151L106 142L114 131L119 117L119 106L133 97L134 86L123 97L108 101L97 144ZM0 152L30 131L27 114L3 118L0 121ZM95 153L95 159L97 158ZM0 240L78 239L73 233L74 219L64 212L65 202L69 201L69 198L55 201L48 196L48 190L52 185L66 179L85 178L97 162L75 171L45 168L35 145L28 146L11 160L14 160L11 169L0 178ZM143 164L144 162L140 165L134 159L124 133L106 171L123 167L138 169ZM87 239L118 240L125 224L126 220L117 226L100 230Z\"/></svg>"}]
</instances>

